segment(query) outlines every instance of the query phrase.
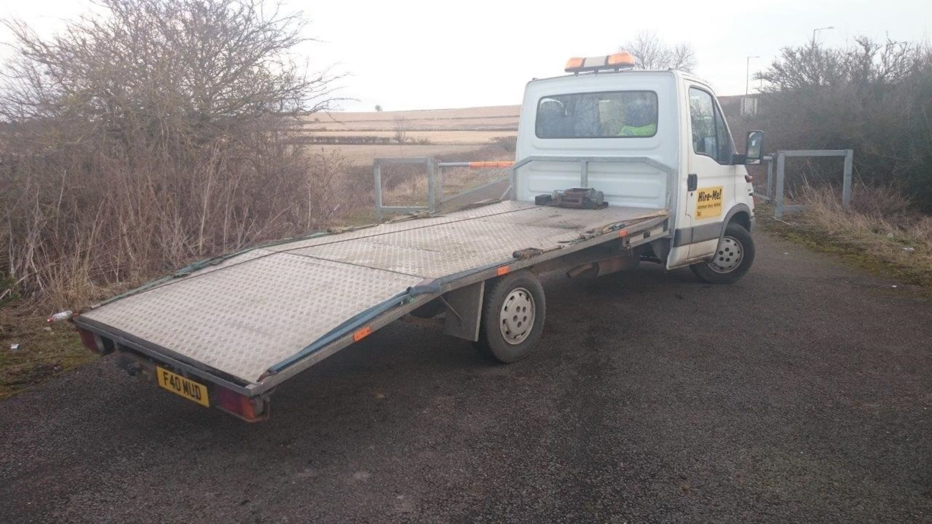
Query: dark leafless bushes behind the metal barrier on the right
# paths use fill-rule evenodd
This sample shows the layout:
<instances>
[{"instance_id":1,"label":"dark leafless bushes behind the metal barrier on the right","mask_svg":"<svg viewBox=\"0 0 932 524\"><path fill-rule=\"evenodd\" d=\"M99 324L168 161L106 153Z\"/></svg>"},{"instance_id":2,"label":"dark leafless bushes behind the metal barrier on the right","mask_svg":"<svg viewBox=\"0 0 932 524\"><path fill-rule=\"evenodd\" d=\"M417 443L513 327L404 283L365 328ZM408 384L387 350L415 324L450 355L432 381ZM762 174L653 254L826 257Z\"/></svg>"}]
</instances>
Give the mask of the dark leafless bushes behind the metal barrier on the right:
<instances>
[{"instance_id":1,"label":"dark leafless bushes behind the metal barrier on the right","mask_svg":"<svg viewBox=\"0 0 932 524\"><path fill-rule=\"evenodd\" d=\"M785 48L758 76L768 85L757 117L768 149L854 149L857 179L900 188L932 212L932 52L925 45L857 38L847 49ZM841 179L840 161L806 162L816 179ZM829 171L831 174L829 175ZM789 174L789 172L788 172ZM792 182L792 181L791 181Z\"/></svg>"}]
</instances>

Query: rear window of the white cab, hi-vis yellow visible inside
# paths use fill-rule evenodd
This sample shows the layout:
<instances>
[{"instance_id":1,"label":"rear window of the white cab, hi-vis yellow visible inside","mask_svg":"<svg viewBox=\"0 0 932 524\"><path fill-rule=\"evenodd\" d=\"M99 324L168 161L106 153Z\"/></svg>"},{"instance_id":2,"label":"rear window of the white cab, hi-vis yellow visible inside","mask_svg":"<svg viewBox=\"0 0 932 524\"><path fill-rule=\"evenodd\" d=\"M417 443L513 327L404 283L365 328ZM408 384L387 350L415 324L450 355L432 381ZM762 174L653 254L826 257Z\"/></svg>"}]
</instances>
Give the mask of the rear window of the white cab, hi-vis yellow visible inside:
<instances>
[{"instance_id":1,"label":"rear window of the white cab, hi-vis yellow visible inside","mask_svg":"<svg viewBox=\"0 0 932 524\"><path fill-rule=\"evenodd\" d=\"M657 134L657 93L608 91L542 97L538 138L646 138Z\"/></svg>"}]
</instances>

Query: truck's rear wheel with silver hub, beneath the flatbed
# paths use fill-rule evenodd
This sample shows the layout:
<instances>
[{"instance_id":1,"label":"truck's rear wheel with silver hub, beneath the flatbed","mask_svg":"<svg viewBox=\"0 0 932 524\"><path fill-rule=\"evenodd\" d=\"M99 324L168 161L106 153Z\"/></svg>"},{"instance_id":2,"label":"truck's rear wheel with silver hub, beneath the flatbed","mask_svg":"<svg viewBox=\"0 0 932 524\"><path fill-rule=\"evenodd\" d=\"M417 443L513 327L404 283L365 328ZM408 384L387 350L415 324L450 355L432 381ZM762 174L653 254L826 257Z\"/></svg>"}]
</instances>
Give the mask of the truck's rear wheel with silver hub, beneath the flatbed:
<instances>
[{"instance_id":1,"label":"truck's rear wheel with silver hub, beneath the flatbed","mask_svg":"<svg viewBox=\"0 0 932 524\"><path fill-rule=\"evenodd\" d=\"M546 312L543 287L529 271L489 281L476 346L500 363L517 362L541 338Z\"/></svg>"}]
</instances>

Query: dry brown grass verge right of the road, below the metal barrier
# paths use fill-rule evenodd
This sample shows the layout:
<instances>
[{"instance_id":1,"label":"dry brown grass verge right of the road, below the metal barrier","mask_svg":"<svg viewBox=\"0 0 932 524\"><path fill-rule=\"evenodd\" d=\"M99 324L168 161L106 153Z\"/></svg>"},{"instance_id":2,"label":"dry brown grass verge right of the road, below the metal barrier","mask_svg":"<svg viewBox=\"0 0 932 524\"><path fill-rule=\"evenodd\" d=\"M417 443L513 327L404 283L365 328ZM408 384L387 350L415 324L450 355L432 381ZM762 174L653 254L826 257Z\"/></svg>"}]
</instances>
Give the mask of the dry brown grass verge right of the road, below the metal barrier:
<instances>
[{"instance_id":1,"label":"dry brown grass verge right of the road, below the metal barrier","mask_svg":"<svg viewBox=\"0 0 932 524\"><path fill-rule=\"evenodd\" d=\"M849 210L831 186L803 185L795 198L808 207L787 223L772 223L776 232L932 295L932 216L911 211L898 189L857 186Z\"/></svg>"}]
</instances>

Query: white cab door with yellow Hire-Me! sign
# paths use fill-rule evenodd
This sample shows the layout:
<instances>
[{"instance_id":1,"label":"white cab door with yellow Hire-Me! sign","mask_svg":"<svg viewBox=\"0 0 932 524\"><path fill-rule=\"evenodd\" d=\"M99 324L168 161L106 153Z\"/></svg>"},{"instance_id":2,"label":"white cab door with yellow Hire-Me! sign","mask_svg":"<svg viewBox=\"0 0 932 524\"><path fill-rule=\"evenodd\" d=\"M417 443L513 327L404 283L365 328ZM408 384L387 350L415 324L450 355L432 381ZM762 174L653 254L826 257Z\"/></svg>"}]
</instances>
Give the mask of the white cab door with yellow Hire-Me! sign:
<instances>
[{"instance_id":1,"label":"white cab door with yellow Hire-Me! sign","mask_svg":"<svg viewBox=\"0 0 932 524\"><path fill-rule=\"evenodd\" d=\"M711 90L687 83L692 144L687 153L688 258L712 255L734 201L734 144Z\"/></svg>"}]
</instances>

